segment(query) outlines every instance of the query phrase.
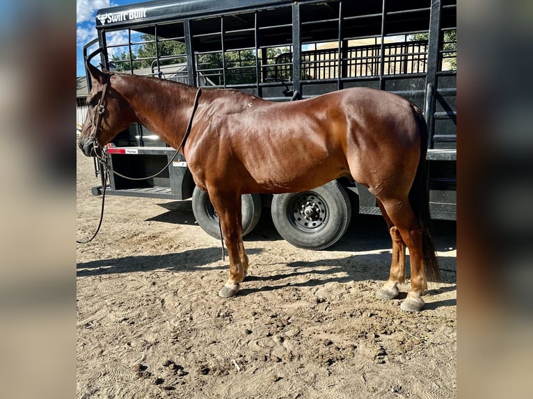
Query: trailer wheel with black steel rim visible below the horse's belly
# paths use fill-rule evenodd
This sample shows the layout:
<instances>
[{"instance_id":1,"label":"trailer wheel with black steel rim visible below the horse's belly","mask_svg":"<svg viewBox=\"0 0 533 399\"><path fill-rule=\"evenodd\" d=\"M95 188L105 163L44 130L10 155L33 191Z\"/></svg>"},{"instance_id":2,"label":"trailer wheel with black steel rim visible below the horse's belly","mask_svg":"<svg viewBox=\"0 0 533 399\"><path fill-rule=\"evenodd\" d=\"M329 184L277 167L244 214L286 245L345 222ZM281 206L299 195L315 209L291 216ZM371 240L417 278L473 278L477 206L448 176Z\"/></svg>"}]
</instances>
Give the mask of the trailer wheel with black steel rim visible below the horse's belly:
<instances>
[{"instance_id":1,"label":"trailer wheel with black steel rim visible below the horse's belly","mask_svg":"<svg viewBox=\"0 0 533 399\"><path fill-rule=\"evenodd\" d=\"M337 182L302 193L274 195L272 220L278 233L292 245L324 250L346 232L351 204L346 190Z\"/></svg>"}]
</instances>

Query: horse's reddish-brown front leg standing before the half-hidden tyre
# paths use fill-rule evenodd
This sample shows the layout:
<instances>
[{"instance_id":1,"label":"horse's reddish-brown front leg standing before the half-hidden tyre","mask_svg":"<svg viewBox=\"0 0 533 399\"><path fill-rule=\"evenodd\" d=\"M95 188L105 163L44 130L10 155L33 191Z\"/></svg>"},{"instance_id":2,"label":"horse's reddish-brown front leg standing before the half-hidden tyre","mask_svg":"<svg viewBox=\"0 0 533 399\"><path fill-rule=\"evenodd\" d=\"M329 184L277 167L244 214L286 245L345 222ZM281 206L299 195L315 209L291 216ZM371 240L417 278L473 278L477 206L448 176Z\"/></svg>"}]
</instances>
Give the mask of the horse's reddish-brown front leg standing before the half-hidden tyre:
<instances>
[{"instance_id":1,"label":"horse's reddish-brown front leg standing before the half-hidden tyre","mask_svg":"<svg viewBox=\"0 0 533 399\"><path fill-rule=\"evenodd\" d=\"M241 198L239 195L216 195L211 192L209 198L220 218L222 235L230 258L230 276L218 296L230 298L239 292L240 283L244 280L245 266L248 268L248 257L242 244Z\"/></svg>"}]
</instances>

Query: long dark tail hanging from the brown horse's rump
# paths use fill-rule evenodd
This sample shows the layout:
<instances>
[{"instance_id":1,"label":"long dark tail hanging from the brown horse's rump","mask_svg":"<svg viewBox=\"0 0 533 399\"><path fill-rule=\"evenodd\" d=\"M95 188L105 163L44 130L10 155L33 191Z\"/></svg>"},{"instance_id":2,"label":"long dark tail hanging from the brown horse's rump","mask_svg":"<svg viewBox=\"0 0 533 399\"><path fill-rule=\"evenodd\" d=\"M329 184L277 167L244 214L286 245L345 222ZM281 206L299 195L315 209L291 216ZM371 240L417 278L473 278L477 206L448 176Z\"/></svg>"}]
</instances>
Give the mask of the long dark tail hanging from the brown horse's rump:
<instances>
[{"instance_id":1,"label":"long dark tail hanging from the brown horse's rump","mask_svg":"<svg viewBox=\"0 0 533 399\"><path fill-rule=\"evenodd\" d=\"M420 108L415 108L418 129L420 131L420 160L416 170L413 186L409 191L409 202L415 212L415 216L422 225L422 253L424 254L424 267L426 277L429 281L440 281L440 270L438 268L435 245L433 243L433 227L431 225L431 215L429 213L429 187L427 175L427 142L429 133L426 120Z\"/></svg>"}]
</instances>

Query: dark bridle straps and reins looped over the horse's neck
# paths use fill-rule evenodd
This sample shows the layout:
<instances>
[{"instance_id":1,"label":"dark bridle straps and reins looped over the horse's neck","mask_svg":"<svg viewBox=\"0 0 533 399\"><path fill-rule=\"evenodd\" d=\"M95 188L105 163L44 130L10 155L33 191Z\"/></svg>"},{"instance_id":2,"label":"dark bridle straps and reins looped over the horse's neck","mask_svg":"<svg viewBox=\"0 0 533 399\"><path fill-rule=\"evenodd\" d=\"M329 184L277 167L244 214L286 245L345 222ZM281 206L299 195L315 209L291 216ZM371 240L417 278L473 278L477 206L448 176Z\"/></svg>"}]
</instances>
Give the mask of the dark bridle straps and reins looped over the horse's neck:
<instances>
[{"instance_id":1,"label":"dark bridle straps and reins looped over the horse's neck","mask_svg":"<svg viewBox=\"0 0 533 399\"><path fill-rule=\"evenodd\" d=\"M102 220L104 220L104 203L105 203L105 200L106 200L106 186L107 186L107 178L109 176L109 171L113 172L114 174L116 174L116 175L118 175L118 176L120 176L120 177L122 177L124 179L129 179L129 180L148 180L148 179L152 179L152 177L156 177L158 174L161 174L161 172L166 170L166 168L168 168L168 166L170 166L170 163L172 163L172 161L174 161L175 157L180 152L180 149L182 149L184 147L186 139L187 139L187 137L189 137L189 134L191 133L191 128L193 126L194 114L196 113L196 108L198 108L198 99L200 98L200 94L202 92L202 90L200 88L196 91L196 97L194 97L193 112L191 113L191 119L189 119L189 125L187 126L185 134L184 134L184 136L182 138L182 142L180 142L180 146L177 147L177 150L176 150L175 154L173 155L173 157L170 159L170 162L168 162L166 164L166 166L163 169L161 169L159 172L157 172L156 174L152 174L152 176L134 178L134 177L124 176L123 174L120 174L120 173L116 172L115 170L112 170L111 168L109 168L109 164L107 163L109 154L107 152L104 152L104 149L100 146L100 143L98 142L98 140L96 140L98 124L100 124L100 117L102 116L102 114L105 111L104 104L103 104L104 103L104 95L106 93L107 84L109 83L110 79L111 79L111 75L109 75L109 77L108 77L108 79L107 79L107 81L105 83L104 90L102 90L102 98L100 99L100 101L98 102L98 105L97 105L97 107L98 107L98 109L97 109L98 115L97 115L97 119L96 119L97 124L95 124L95 130L94 130L94 133L93 133L93 135L95 136L94 146L95 146L96 158L100 162L100 164L102 165L102 173L104 173L104 179L103 179L104 187L102 188L102 209L100 211L100 222L98 222L98 227L96 228L95 234L93 234L93 236L91 238L89 238L87 241L76 240L76 243L78 243L78 244L88 244L88 243L90 243L91 241L93 241L95 239L95 237L97 236L98 232L100 231L100 227L102 226ZM220 219L218 219L218 227L220 227L220 229L221 229L221 240L222 240L222 227L221 227L221 224L220 224ZM223 241L222 241L222 259L224 260L224 242Z\"/></svg>"}]
</instances>

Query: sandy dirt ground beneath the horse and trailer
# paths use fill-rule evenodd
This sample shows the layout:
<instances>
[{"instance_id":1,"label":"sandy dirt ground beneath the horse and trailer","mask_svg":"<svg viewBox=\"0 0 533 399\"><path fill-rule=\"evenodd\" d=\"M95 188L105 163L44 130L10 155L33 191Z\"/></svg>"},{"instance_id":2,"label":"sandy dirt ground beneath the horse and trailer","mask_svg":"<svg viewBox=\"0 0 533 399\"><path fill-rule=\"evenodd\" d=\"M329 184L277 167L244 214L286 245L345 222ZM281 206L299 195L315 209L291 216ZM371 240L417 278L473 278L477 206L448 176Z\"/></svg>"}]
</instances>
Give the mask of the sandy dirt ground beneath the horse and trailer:
<instances>
[{"instance_id":1,"label":"sandy dirt ground beneath the horse and trailer","mask_svg":"<svg viewBox=\"0 0 533 399\"><path fill-rule=\"evenodd\" d=\"M77 152L82 240L101 200ZM109 196L100 234L77 245L77 398L455 398L455 229L436 222L443 282L406 314L408 286L375 296L391 254L381 217L314 252L280 238L263 209L245 238L248 278L223 300L228 261L190 202Z\"/></svg>"}]
</instances>

